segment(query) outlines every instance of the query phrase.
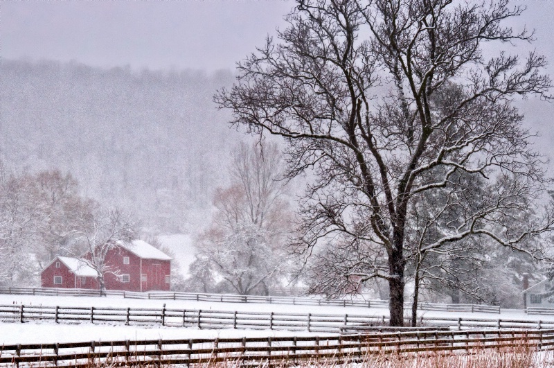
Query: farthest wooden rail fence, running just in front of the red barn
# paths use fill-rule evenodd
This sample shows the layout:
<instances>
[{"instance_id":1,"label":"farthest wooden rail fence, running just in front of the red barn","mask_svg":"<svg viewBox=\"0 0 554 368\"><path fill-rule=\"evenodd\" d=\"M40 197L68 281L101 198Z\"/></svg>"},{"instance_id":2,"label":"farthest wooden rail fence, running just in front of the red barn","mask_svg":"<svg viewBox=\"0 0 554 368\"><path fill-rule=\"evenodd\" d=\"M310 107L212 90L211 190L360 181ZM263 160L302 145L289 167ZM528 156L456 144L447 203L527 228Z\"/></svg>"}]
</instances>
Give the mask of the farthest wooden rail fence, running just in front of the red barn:
<instances>
[{"instance_id":1,"label":"farthest wooden rail fence, running just in front of the red barn","mask_svg":"<svg viewBox=\"0 0 554 368\"><path fill-rule=\"evenodd\" d=\"M60 289L60 288L0 288L0 294L12 295L66 295L75 297L100 297L113 295L129 299L166 299L192 300L225 303L265 303L265 304L292 304L303 306L357 306L367 308L388 308L386 300L359 300L359 299L321 299L310 297L274 297L260 295L233 295L233 294L202 294L192 292L133 292L123 290L89 290L89 289ZM406 304L405 308L411 308ZM449 312L485 312L500 313L499 306L485 306L481 304L436 304L420 303L420 310L438 310Z\"/></svg>"}]
</instances>

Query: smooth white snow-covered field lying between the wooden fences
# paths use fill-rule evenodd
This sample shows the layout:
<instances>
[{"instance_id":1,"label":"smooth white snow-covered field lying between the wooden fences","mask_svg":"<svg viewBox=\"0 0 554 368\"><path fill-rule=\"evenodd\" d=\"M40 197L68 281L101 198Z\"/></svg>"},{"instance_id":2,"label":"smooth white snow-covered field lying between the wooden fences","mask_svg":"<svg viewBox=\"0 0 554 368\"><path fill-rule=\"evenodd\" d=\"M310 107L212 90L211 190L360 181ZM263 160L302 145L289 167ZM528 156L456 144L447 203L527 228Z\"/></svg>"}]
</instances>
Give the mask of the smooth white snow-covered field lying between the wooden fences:
<instances>
[{"instance_id":1,"label":"smooth white snow-covered field lying between the wooden fences","mask_svg":"<svg viewBox=\"0 0 554 368\"><path fill-rule=\"evenodd\" d=\"M0 304L24 304L43 306L111 306L130 308L240 310L275 313L315 313L343 315L388 315L386 308L362 308L339 306L292 306L288 304L237 304L211 303L206 301L173 301L123 299L122 297L48 297L33 295L0 295ZM448 313L422 311L425 317L462 317L485 319L526 319L554 321L554 315L526 315L522 310L503 310L502 313ZM190 339L190 338L237 338L255 336L316 335L316 333L292 331L248 331L248 330L199 330L197 328L164 326L124 326L122 324L55 324L53 322L26 322L24 324L0 322L0 344L26 344L48 342L71 342L91 340L136 340L136 339Z\"/></svg>"}]
</instances>

